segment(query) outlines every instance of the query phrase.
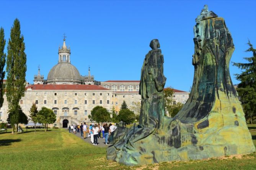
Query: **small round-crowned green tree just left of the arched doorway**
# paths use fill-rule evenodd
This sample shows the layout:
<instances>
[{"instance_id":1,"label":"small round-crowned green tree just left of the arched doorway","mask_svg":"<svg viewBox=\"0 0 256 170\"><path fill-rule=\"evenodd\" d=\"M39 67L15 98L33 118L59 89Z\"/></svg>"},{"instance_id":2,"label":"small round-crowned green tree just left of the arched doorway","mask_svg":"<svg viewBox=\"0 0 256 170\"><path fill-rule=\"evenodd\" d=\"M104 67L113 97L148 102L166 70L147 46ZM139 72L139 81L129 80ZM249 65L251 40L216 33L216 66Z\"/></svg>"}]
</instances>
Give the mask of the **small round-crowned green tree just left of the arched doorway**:
<instances>
[{"instance_id":1,"label":"small round-crowned green tree just left of the arched doorway","mask_svg":"<svg viewBox=\"0 0 256 170\"><path fill-rule=\"evenodd\" d=\"M52 124L56 121L56 115L47 107L42 107L38 112L37 120L39 123L43 123L45 125L45 131L48 130L48 124Z\"/></svg>"}]
</instances>

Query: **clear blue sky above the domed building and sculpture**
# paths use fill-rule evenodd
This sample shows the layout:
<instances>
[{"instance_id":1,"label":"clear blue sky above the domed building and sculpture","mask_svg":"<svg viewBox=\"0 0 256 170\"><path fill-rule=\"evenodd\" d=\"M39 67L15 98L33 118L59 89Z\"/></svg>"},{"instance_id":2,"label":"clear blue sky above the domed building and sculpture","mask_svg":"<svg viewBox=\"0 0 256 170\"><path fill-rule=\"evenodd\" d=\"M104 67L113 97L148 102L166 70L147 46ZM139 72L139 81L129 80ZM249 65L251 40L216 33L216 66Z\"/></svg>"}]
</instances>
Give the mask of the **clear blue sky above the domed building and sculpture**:
<instances>
[{"instance_id":1,"label":"clear blue sky above the domed building and sculpture","mask_svg":"<svg viewBox=\"0 0 256 170\"><path fill-rule=\"evenodd\" d=\"M80 74L88 66L96 80L139 80L149 43L158 38L164 55L166 85L189 91L194 75L193 26L204 4L223 17L230 30L234 62L244 62L248 39L256 47L256 1L0 1L0 26L8 42L15 18L21 23L27 54L26 80L33 83L40 64L47 79L57 64L58 47L71 48ZM7 45L6 45L7 48ZM5 50L7 51L7 50ZM230 64L233 74L240 70Z\"/></svg>"}]
</instances>

